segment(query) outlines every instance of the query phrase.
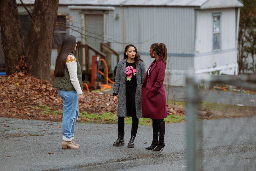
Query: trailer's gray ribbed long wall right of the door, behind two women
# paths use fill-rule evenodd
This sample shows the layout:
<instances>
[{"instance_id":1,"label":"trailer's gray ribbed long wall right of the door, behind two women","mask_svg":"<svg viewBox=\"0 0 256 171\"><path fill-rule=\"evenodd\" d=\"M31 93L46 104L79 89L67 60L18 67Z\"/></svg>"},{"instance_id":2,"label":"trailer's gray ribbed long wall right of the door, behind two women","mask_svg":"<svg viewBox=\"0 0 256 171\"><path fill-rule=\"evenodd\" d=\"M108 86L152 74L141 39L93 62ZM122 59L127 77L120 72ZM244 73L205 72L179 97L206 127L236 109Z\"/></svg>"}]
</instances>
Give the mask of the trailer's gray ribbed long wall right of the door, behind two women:
<instances>
[{"instance_id":1,"label":"trailer's gray ribbed long wall right of the door, behind two women","mask_svg":"<svg viewBox=\"0 0 256 171\"><path fill-rule=\"evenodd\" d=\"M115 19L115 16L119 18ZM128 43L134 44L143 54L146 66L152 59L149 48L152 43L165 43L167 53L178 56L179 69L187 69L187 57L194 54L194 9L189 7L115 7L106 16L107 41L120 53ZM111 40L110 40L111 39ZM122 42L113 43L113 42ZM180 59L178 59L180 58ZM189 58L189 57L188 57ZM113 60L112 66L116 66Z\"/></svg>"}]
</instances>

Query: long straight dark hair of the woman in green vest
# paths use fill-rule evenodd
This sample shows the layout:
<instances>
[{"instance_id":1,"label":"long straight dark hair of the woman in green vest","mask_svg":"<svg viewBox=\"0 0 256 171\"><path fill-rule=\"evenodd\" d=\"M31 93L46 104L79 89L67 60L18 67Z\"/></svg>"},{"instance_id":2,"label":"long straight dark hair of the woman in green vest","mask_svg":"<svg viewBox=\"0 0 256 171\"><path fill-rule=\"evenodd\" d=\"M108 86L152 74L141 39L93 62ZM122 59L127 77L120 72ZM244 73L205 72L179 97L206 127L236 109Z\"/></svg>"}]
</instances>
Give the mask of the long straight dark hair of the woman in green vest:
<instances>
[{"instance_id":1,"label":"long straight dark hair of the woman in green vest","mask_svg":"<svg viewBox=\"0 0 256 171\"><path fill-rule=\"evenodd\" d=\"M72 35L67 35L61 43L61 48L56 59L54 76L63 77L66 65L67 56L73 51L76 44L76 38Z\"/></svg>"}]
</instances>

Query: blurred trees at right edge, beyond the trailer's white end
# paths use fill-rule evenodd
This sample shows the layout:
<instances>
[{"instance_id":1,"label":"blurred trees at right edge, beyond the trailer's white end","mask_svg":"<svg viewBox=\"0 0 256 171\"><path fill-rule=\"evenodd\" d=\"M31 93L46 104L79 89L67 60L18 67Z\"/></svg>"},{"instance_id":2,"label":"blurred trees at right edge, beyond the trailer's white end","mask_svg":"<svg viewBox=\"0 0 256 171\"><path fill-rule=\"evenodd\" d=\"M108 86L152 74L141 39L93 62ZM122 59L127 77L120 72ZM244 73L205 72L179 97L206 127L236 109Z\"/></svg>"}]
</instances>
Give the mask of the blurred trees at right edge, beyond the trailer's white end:
<instances>
[{"instance_id":1,"label":"blurred trees at right edge, beyond the trailer's white end","mask_svg":"<svg viewBox=\"0 0 256 171\"><path fill-rule=\"evenodd\" d=\"M242 0L238 35L239 73L256 73L256 0Z\"/></svg>"}]
</instances>

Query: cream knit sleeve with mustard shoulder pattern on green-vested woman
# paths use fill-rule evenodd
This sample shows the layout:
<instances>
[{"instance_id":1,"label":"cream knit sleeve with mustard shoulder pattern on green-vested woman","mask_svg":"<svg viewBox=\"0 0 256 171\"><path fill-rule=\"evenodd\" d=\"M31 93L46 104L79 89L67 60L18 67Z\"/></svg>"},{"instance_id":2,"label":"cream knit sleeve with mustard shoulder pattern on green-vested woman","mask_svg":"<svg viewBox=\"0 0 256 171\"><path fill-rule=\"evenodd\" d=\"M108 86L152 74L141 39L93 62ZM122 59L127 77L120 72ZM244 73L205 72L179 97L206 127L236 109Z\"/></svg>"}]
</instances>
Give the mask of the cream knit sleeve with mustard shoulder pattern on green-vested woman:
<instances>
[{"instance_id":1,"label":"cream knit sleeve with mustard shoulder pattern on green-vested woman","mask_svg":"<svg viewBox=\"0 0 256 171\"><path fill-rule=\"evenodd\" d=\"M73 55L68 55L66 60L67 69L69 72L70 81L75 88L78 94L82 94L82 89L80 87L78 78L77 78L77 64L76 59Z\"/></svg>"}]
</instances>

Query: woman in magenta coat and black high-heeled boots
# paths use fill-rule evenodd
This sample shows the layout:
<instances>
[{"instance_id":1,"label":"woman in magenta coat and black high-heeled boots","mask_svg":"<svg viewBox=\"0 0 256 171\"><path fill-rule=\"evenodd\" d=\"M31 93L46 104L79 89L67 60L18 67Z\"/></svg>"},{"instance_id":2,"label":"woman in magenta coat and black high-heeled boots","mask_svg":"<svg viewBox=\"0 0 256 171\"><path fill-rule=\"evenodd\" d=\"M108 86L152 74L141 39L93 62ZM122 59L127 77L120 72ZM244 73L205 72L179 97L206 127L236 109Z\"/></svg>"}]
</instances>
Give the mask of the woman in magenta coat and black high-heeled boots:
<instances>
[{"instance_id":1,"label":"woman in magenta coat and black high-heeled boots","mask_svg":"<svg viewBox=\"0 0 256 171\"><path fill-rule=\"evenodd\" d=\"M165 89L165 68L167 50L164 43L154 43L150 46L150 57L155 60L149 66L142 84L142 116L152 119L153 141L148 150L164 149L165 119L167 117ZM159 132L159 141L158 141ZM157 148L155 148L157 147Z\"/></svg>"}]
</instances>

